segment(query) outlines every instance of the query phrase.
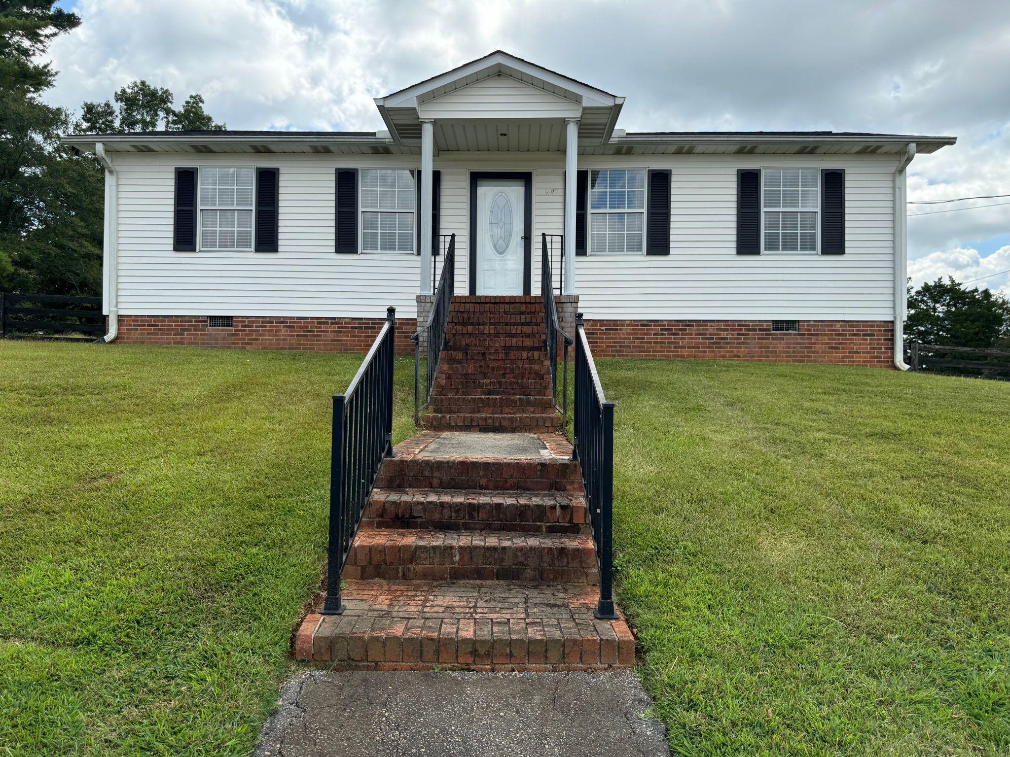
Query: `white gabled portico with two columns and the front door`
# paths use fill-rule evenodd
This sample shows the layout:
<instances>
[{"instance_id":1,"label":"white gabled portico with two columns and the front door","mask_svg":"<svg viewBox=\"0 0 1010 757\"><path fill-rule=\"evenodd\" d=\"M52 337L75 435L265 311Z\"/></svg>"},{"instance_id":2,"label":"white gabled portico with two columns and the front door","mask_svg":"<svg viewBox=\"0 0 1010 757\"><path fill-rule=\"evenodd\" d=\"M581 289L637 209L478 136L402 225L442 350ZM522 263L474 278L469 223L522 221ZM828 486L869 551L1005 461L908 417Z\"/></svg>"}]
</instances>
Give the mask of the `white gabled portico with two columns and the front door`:
<instances>
[{"instance_id":1,"label":"white gabled portico with two columns and the front door","mask_svg":"<svg viewBox=\"0 0 1010 757\"><path fill-rule=\"evenodd\" d=\"M460 152L511 153L522 168L523 153L565 153L564 238L574 239L579 149L602 147L613 133L624 98L496 51L440 76L376 100L390 137L401 148L420 150L419 293L432 294L432 187L437 156ZM535 213L530 183L519 206L516 172L475 171L468 229L468 281L472 294L530 294ZM519 172L521 173L521 172ZM477 214L477 204L483 213ZM462 231L462 229L461 229ZM462 250L461 250L462 252ZM516 279L522 260L521 280ZM487 261L483 282L479 267ZM492 269L494 268L494 269ZM564 293L576 292L575 256L564 255ZM521 281L521 291L516 289ZM482 286L486 285L486 286ZM500 291L495 291L500 290ZM514 291L515 290L515 291ZM420 315L420 314L419 314Z\"/></svg>"}]
</instances>

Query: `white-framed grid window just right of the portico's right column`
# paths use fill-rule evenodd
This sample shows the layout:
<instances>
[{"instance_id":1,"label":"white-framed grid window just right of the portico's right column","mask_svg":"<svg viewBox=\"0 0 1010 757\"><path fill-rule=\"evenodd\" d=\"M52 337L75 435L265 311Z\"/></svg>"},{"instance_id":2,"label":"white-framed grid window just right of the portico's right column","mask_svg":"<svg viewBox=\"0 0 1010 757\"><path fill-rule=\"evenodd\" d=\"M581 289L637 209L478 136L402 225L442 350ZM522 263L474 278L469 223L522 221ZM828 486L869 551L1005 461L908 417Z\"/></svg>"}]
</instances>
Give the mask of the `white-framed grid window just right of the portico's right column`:
<instances>
[{"instance_id":1,"label":"white-framed grid window just right of the portico's right column","mask_svg":"<svg viewBox=\"0 0 1010 757\"><path fill-rule=\"evenodd\" d=\"M603 169L589 175L589 252L643 251L645 170Z\"/></svg>"}]
</instances>

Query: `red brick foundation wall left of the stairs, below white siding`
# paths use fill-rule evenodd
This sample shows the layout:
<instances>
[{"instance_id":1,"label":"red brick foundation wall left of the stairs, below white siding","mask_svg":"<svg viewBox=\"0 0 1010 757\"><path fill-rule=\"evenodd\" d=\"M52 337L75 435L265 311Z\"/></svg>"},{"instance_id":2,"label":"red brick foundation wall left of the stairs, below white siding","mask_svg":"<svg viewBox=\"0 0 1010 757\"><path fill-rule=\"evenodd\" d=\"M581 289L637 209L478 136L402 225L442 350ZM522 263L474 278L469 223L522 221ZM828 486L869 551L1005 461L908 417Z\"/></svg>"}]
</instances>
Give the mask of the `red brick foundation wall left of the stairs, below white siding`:
<instances>
[{"instance_id":1,"label":"red brick foundation wall left of the stairs, below white siding","mask_svg":"<svg viewBox=\"0 0 1010 757\"><path fill-rule=\"evenodd\" d=\"M119 316L116 344L190 345L230 349L368 352L382 318L234 316L232 328L208 328L206 316ZM413 318L398 319L396 351L413 354Z\"/></svg>"}]
</instances>

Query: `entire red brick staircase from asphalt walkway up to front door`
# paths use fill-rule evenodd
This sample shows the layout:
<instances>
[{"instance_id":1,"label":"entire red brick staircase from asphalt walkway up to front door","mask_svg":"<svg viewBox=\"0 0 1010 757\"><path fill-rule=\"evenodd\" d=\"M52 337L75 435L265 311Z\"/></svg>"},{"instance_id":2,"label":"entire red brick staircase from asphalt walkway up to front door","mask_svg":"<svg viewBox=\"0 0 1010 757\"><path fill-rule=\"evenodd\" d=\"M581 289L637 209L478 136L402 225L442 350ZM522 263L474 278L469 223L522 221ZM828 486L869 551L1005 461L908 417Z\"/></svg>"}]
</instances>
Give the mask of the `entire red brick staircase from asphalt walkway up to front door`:
<instances>
[{"instance_id":1,"label":"entire red brick staircase from asphalt walkway up to front door","mask_svg":"<svg viewBox=\"0 0 1010 757\"><path fill-rule=\"evenodd\" d=\"M585 491L557 433L542 332L538 298L453 298L429 430L383 463L343 568L345 611L307 616L296 658L373 670L634 663L624 621L593 615Z\"/></svg>"}]
</instances>

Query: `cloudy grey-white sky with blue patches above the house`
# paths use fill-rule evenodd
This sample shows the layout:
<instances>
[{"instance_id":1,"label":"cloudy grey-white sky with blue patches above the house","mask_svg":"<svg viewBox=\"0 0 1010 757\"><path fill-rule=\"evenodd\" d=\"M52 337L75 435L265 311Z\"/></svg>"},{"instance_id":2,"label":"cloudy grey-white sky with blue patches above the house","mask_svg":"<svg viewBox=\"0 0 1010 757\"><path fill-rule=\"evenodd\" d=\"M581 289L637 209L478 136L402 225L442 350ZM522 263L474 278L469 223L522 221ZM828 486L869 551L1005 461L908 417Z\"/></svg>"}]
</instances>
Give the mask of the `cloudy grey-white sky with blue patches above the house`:
<instances>
[{"instance_id":1,"label":"cloudy grey-white sky with blue patches above the house","mask_svg":"<svg viewBox=\"0 0 1010 757\"><path fill-rule=\"evenodd\" d=\"M372 98L505 49L627 98L636 130L955 135L909 199L1010 195L1007 0L61 0L54 104L135 79L192 92L229 128L383 128ZM999 205L999 203L1005 203ZM992 205L993 207L981 207ZM955 208L979 209L949 211ZM1010 294L1010 197L910 205L916 284Z\"/></svg>"}]
</instances>

